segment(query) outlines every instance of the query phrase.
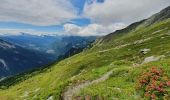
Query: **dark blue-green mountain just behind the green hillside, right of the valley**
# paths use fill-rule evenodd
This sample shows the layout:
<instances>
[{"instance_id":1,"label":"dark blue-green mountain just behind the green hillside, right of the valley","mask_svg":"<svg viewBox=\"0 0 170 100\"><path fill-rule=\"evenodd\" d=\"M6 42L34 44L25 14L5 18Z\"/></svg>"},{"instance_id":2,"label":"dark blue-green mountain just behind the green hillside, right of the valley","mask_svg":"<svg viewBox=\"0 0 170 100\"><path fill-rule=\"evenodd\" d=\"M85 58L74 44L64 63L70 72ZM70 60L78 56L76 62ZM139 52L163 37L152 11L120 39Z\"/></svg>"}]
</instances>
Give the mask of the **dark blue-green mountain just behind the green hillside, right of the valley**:
<instances>
[{"instance_id":1,"label":"dark blue-green mountain just behind the green hillside, right of the valley","mask_svg":"<svg viewBox=\"0 0 170 100\"><path fill-rule=\"evenodd\" d=\"M59 58L69 55L71 56L88 48L91 42L95 39L96 37L94 36L65 36L61 41L55 41L51 45L51 50L54 50Z\"/></svg>"}]
</instances>

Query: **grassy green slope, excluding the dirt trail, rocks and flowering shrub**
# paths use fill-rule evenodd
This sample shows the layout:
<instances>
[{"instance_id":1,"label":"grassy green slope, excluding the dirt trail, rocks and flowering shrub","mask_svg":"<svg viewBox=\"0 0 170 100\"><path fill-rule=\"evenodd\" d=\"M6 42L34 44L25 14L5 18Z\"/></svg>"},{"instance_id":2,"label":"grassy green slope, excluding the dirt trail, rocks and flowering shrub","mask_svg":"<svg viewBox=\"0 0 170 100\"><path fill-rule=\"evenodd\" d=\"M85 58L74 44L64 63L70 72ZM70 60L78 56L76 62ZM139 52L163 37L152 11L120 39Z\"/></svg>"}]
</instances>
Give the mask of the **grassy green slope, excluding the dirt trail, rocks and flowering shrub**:
<instances>
[{"instance_id":1,"label":"grassy green slope, excluding the dirt trail, rocks and flowering shrub","mask_svg":"<svg viewBox=\"0 0 170 100\"><path fill-rule=\"evenodd\" d=\"M158 30L162 31L158 32ZM148 40L134 44L135 41L142 39ZM127 43L127 46L118 48ZM94 46L90 50L65 59L41 73L30 74L28 79L24 79L8 89L0 90L0 99L13 100L17 98L22 100L27 98L32 100L33 98L47 99L49 96L58 99L66 86L94 80L111 69L114 70L114 74L107 81L85 88L76 95L140 98L135 92L135 81L143 70L159 66L163 67L170 76L169 43L170 19L126 33L126 35L117 35L113 37L112 41ZM141 55L139 51L144 48L151 49L151 51L146 55ZM166 57L161 61L138 67L133 66L133 63L142 63L144 58L153 55L165 55ZM25 77L27 78L27 75Z\"/></svg>"}]
</instances>

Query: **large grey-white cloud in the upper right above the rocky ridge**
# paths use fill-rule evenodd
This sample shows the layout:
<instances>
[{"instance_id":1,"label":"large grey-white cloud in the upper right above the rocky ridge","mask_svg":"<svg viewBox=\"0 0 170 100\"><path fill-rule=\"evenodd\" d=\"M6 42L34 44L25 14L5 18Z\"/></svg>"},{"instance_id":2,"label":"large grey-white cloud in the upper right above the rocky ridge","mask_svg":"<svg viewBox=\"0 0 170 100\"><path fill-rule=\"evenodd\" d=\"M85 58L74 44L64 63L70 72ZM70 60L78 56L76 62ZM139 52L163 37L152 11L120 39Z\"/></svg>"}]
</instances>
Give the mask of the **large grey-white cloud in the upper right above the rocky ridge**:
<instances>
[{"instance_id":1,"label":"large grey-white cloud in the upper right above the rocky ridge","mask_svg":"<svg viewBox=\"0 0 170 100\"><path fill-rule=\"evenodd\" d=\"M170 0L105 0L103 3L97 1L88 0L83 16L103 25L115 22L130 24L170 5Z\"/></svg>"}]
</instances>

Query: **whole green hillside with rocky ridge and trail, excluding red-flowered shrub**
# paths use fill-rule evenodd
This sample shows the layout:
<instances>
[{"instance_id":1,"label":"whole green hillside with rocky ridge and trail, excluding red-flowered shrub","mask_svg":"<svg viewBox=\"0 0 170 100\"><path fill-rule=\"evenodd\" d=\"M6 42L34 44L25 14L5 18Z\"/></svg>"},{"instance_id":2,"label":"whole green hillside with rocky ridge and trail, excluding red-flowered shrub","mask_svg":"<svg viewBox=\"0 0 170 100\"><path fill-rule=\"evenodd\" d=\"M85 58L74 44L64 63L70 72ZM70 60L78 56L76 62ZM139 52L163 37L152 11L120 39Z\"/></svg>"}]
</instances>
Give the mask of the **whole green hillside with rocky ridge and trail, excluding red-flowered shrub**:
<instances>
[{"instance_id":1,"label":"whole green hillside with rocky ridge and trail, excluding red-flowered shrub","mask_svg":"<svg viewBox=\"0 0 170 100\"><path fill-rule=\"evenodd\" d=\"M46 69L2 81L0 100L143 99L137 88L143 72L156 66L170 77L169 9L102 37L91 49ZM163 97L168 100L170 87L166 89Z\"/></svg>"}]
</instances>

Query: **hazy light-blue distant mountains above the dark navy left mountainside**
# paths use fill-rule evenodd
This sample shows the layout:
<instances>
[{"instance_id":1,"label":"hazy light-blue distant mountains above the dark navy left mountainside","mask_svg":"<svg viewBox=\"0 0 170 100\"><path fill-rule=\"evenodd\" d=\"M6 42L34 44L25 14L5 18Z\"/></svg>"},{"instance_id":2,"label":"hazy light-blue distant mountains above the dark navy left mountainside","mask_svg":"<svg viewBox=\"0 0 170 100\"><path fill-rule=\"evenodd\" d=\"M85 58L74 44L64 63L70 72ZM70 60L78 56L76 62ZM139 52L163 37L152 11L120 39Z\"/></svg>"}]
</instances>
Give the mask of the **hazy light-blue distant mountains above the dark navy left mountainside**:
<instances>
[{"instance_id":1,"label":"hazy light-blue distant mountains above the dark navy left mountainside","mask_svg":"<svg viewBox=\"0 0 170 100\"><path fill-rule=\"evenodd\" d=\"M23 48L48 53L48 50L51 50L51 44L55 41L61 41L62 36L37 36L29 33L22 33L20 35L2 35L0 38Z\"/></svg>"}]
</instances>

